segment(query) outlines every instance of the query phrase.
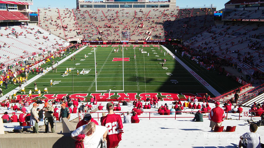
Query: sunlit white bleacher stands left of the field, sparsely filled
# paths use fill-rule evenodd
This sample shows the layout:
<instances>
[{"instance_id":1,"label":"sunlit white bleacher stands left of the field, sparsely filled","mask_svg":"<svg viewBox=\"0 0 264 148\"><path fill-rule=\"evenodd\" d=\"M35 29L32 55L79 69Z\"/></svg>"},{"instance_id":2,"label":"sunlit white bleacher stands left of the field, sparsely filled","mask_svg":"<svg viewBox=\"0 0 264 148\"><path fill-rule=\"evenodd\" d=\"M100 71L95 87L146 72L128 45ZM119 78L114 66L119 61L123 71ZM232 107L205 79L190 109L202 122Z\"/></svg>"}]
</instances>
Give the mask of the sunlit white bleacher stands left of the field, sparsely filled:
<instances>
[{"instance_id":1,"label":"sunlit white bleacher stands left of the field, sparsely filled","mask_svg":"<svg viewBox=\"0 0 264 148\"><path fill-rule=\"evenodd\" d=\"M0 62L9 65L24 58L66 46L66 41L38 26L1 27Z\"/></svg>"}]
</instances>

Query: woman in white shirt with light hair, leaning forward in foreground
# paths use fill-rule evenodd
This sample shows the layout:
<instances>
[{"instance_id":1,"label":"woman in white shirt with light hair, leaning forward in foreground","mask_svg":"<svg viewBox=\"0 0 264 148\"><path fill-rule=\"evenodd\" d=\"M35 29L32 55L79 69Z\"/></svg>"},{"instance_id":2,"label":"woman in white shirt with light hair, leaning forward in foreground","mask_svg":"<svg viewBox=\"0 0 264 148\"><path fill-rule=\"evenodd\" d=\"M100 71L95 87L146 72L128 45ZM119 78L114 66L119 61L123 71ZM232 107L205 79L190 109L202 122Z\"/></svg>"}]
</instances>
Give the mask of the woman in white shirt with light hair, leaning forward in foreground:
<instances>
[{"instance_id":1,"label":"woman in white shirt with light hair, leaning forward in foreground","mask_svg":"<svg viewBox=\"0 0 264 148\"><path fill-rule=\"evenodd\" d=\"M80 126L72 132L71 137L75 142L75 148L100 148L101 137L106 141L107 128L90 122Z\"/></svg>"}]
</instances>

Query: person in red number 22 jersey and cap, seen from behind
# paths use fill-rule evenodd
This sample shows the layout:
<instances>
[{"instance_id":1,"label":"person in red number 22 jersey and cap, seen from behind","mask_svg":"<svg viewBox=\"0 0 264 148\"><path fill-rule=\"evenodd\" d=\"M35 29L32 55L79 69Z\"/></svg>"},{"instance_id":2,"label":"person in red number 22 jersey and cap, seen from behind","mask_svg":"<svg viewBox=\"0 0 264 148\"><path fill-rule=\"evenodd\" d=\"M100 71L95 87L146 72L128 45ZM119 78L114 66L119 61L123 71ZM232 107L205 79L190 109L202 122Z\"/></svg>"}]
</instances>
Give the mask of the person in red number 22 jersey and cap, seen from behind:
<instances>
[{"instance_id":1,"label":"person in red number 22 jersey and cap, seen from behind","mask_svg":"<svg viewBox=\"0 0 264 148\"><path fill-rule=\"evenodd\" d=\"M122 140L123 133L123 123L120 115L114 113L114 104L107 103L106 109L108 111L108 115L102 118L101 125L107 128L107 147L108 148L116 148L118 147L119 142Z\"/></svg>"}]
</instances>

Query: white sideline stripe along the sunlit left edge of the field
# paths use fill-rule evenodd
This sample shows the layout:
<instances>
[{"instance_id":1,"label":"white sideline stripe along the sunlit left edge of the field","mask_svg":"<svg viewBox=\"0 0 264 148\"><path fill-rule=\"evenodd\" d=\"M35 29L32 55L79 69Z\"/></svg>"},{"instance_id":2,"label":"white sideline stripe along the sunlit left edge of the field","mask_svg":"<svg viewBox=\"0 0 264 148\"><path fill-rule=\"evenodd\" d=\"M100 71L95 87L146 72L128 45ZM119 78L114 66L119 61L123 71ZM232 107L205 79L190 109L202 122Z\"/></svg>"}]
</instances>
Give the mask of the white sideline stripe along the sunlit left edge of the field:
<instances>
[{"instance_id":1,"label":"white sideline stripe along the sunlit left edge of the field","mask_svg":"<svg viewBox=\"0 0 264 148\"><path fill-rule=\"evenodd\" d=\"M77 54L78 52L82 51L82 49L84 49L84 48L86 48L86 47L87 47L87 46L84 46L84 47L82 47L81 49L79 49L79 50L73 52L72 54L67 55L67 57L65 57L64 59L62 59L61 61L58 62L58 65L60 65L61 63L63 63L63 62L66 61L67 59L69 59L69 58L70 58L71 56L73 56L74 54ZM55 68L55 67L57 67L58 65L57 65L57 63L55 63L53 67ZM45 70L45 69L44 69L44 70ZM49 72L50 70L52 70L51 66L48 68L48 72ZM46 71L46 70L45 70L45 71ZM31 78L30 80L27 81L27 84L23 83L21 87L22 87L22 88L23 88L23 87L26 87L27 85L31 84L32 82L34 82L35 80L37 80L38 78L40 78L40 77L43 76L43 75L44 75L44 73L42 73L42 74L38 74L38 75L34 76L33 78ZM16 88L13 89L13 90L15 90L15 92L20 92L19 87L16 87ZM13 95L13 90L10 91L10 92L8 92L7 94L5 94L3 97L1 97L0 101L4 101L6 97L9 97L9 95L12 96L12 95Z\"/></svg>"}]
</instances>

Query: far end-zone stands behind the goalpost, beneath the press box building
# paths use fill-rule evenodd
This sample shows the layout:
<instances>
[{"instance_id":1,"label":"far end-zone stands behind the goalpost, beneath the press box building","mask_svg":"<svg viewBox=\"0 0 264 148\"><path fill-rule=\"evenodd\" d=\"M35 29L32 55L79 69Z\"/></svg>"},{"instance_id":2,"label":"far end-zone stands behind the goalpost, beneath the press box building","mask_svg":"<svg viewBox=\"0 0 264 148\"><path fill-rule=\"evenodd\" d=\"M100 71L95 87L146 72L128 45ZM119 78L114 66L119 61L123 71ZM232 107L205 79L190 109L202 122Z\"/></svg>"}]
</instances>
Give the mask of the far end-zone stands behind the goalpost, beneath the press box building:
<instances>
[{"instance_id":1,"label":"far end-zone stands behind the goalpost, beneath the press box building","mask_svg":"<svg viewBox=\"0 0 264 148\"><path fill-rule=\"evenodd\" d=\"M38 11L40 27L55 35L59 34L60 37L65 30L62 26L67 24L68 30L65 30L67 32L64 38L80 38L82 34L87 40L119 41L187 39L214 24L212 13L215 8L157 8L149 11L45 8ZM175 26L175 23L178 25ZM184 26L185 24L187 26ZM79 33L76 33L76 30Z\"/></svg>"}]
</instances>

